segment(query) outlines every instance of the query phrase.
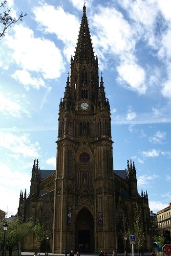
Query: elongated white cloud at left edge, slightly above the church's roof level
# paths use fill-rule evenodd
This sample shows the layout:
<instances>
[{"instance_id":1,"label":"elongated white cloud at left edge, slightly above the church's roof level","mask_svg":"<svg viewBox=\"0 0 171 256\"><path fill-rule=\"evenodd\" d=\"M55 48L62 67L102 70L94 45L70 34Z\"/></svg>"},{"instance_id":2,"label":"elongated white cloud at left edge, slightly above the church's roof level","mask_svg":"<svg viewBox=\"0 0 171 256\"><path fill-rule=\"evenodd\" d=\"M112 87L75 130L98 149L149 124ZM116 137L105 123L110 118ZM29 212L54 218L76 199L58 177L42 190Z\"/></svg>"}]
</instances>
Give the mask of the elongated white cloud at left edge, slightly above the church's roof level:
<instances>
[{"instance_id":1,"label":"elongated white cloud at left edge, slightly above the church's roof level","mask_svg":"<svg viewBox=\"0 0 171 256\"><path fill-rule=\"evenodd\" d=\"M0 132L0 146L8 149L18 157L38 157L40 146L39 142L32 143L29 134L16 136L11 133Z\"/></svg>"}]
</instances>

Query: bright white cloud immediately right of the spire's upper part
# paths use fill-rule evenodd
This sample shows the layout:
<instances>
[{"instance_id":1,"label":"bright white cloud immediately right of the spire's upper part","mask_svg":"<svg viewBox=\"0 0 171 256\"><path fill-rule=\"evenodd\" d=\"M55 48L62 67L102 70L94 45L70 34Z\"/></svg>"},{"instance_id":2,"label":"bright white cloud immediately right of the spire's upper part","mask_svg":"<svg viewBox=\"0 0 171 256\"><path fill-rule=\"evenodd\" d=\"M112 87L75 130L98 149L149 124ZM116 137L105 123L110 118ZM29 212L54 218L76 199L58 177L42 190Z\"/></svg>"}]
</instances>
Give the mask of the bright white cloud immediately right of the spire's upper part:
<instances>
[{"instance_id":1,"label":"bright white cloud immediately right of the spire's upper part","mask_svg":"<svg viewBox=\"0 0 171 256\"><path fill-rule=\"evenodd\" d=\"M101 47L103 51L108 51L109 54L113 53L119 56L124 54L124 52L134 50L134 31L121 12L108 7L101 7L99 11L92 19L92 25L97 33L96 43L98 47ZM93 45L95 45L94 39Z\"/></svg>"}]
</instances>

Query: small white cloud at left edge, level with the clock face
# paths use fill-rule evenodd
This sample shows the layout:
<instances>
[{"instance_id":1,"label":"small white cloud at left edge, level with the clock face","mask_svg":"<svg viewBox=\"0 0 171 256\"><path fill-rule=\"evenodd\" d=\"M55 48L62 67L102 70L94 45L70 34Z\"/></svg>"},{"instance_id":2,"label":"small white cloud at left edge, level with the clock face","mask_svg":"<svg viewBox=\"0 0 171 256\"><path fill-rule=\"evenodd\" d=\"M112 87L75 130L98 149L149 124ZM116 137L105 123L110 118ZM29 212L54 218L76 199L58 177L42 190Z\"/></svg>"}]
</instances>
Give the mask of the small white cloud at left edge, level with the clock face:
<instances>
[{"instance_id":1,"label":"small white cloud at left edge, level with the clock face","mask_svg":"<svg viewBox=\"0 0 171 256\"><path fill-rule=\"evenodd\" d=\"M0 92L0 112L3 115L11 115L14 117L21 117L22 114L30 116L30 113L19 103L14 101L14 97L8 98Z\"/></svg>"}]
</instances>

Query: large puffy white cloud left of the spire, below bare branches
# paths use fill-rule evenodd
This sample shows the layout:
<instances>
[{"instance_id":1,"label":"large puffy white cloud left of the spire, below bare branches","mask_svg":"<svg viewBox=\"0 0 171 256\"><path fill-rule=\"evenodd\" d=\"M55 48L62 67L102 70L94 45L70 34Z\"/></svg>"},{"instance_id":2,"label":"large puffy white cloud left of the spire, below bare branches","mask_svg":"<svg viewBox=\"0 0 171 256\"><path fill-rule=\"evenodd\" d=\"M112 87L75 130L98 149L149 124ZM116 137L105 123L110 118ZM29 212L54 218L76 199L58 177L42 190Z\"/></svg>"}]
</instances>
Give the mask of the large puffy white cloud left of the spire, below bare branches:
<instances>
[{"instance_id":1,"label":"large puffy white cloud left of the spire, below bare branches","mask_svg":"<svg viewBox=\"0 0 171 256\"><path fill-rule=\"evenodd\" d=\"M44 86L42 78L31 78L34 73L40 73L44 79L60 77L64 71L64 62L59 48L50 40L35 38L33 30L21 24L15 25L13 29L15 36L7 35L6 44L13 50L12 60L23 69L22 72L17 71L14 76L26 84L23 72L27 72L26 75L29 82L33 83L33 87L38 81Z\"/></svg>"}]
</instances>

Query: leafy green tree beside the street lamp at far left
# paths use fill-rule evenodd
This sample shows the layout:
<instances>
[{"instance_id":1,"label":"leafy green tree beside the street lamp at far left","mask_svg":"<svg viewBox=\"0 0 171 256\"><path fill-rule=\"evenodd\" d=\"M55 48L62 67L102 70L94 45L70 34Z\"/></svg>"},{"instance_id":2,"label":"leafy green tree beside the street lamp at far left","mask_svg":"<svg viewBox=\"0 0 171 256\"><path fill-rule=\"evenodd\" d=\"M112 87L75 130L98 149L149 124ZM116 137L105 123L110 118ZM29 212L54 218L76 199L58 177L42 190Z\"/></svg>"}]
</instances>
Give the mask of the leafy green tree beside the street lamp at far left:
<instances>
[{"instance_id":1,"label":"leafy green tree beside the street lamp at far left","mask_svg":"<svg viewBox=\"0 0 171 256\"><path fill-rule=\"evenodd\" d=\"M3 230L4 220L0 222L0 230ZM22 218L14 218L14 220L8 222L8 230L6 231L5 244L9 248L9 256L12 256L12 251L15 246L18 248L18 253L20 246L24 239L33 232L34 222L32 219L28 219L23 222ZM0 233L0 242L2 240L3 233Z\"/></svg>"}]
</instances>

